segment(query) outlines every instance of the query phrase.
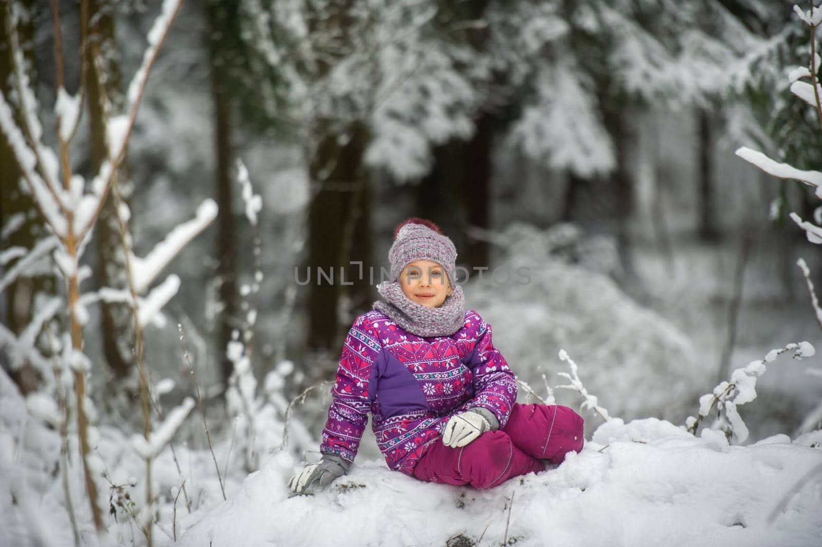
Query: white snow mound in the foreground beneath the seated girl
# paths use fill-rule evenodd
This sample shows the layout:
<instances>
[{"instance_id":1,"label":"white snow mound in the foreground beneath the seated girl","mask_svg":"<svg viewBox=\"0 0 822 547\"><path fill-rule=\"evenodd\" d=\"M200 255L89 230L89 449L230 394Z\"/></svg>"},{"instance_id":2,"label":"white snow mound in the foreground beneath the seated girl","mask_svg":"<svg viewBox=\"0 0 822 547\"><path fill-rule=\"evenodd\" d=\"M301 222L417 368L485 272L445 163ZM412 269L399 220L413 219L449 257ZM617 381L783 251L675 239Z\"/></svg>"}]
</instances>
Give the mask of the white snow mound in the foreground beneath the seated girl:
<instances>
[{"instance_id":1,"label":"white snow mound in the foreground beneath the seated girl","mask_svg":"<svg viewBox=\"0 0 822 547\"><path fill-rule=\"evenodd\" d=\"M741 447L712 430L613 420L558 467L492 490L372 460L325 492L289 497L294 463L275 457L167 545L822 545L820 431Z\"/></svg>"}]
</instances>

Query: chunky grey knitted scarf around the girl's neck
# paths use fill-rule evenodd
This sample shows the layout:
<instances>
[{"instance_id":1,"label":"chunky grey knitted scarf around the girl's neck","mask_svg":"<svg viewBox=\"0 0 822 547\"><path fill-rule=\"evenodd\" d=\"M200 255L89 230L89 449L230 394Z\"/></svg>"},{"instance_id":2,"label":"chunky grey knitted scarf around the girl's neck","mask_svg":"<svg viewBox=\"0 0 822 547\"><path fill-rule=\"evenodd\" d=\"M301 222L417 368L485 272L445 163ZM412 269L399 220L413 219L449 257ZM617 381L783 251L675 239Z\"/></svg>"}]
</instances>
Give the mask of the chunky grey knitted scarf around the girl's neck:
<instances>
[{"instance_id":1,"label":"chunky grey knitted scarf around the girl's neck","mask_svg":"<svg viewBox=\"0 0 822 547\"><path fill-rule=\"evenodd\" d=\"M436 308L410 301L398 281L384 281L376 286L376 291L387 302L374 302L374 309L419 337L450 336L464 324L465 296L462 287L456 283L451 287L451 296L446 296Z\"/></svg>"}]
</instances>

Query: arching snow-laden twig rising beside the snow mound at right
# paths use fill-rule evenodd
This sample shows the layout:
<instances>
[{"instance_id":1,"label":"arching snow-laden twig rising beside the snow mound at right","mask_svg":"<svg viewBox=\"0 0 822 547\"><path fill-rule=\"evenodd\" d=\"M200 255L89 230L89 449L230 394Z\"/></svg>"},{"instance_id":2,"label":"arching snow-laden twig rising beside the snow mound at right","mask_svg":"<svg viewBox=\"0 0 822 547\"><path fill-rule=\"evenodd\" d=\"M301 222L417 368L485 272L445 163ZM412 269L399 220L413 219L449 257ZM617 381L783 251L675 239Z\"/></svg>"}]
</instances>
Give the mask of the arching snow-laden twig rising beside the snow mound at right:
<instances>
[{"instance_id":1,"label":"arching snow-laden twig rising beside the snow mound at right","mask_svg":"<svg viewBox=\"0 0 822 547\"><path fill-rule=\"evenodd\" d=\"M685 422L686 428L690 433L696 434L700 421L709 415L714 406L717 406L719 411L725 411L733 438L739 444L744 443L748 438L748 427L742 421L737 407L756 398L756 379L764 374L765 363L773 362L781 354L790 351L794 352L794 359L814 356L816 352L808 342L790 343L785 347L771 350L760 361L751 361L748 365L734 370L730 381L721 382L713 388L711 393L705 393L700 397L700 413L696 417L688 416Z\"/></svg>"}]
</instances>

